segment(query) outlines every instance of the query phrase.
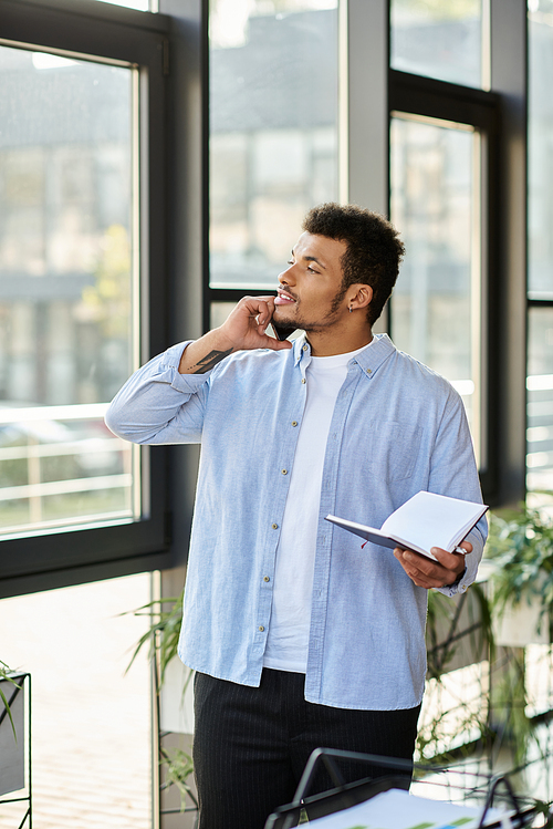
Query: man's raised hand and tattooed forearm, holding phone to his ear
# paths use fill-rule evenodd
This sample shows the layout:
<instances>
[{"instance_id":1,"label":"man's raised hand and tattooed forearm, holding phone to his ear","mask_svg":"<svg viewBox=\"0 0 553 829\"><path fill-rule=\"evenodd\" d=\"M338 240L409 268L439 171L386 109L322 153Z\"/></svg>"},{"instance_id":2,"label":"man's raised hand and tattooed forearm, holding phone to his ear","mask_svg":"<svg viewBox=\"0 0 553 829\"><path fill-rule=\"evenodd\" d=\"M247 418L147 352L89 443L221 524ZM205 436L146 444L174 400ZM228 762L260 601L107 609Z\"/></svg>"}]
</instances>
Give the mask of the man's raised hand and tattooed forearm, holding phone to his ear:
<instances>
[{"instance_id":1,"label":"man's raised hand and tattooed forearm, holding phone to his ear","mask_svg":"<svg viewBox=\"0 0 553 829\"><path fill-rule=\"evenodd\" d=\"M205 374L234 351L291 349L288 340L265 333L274 312L274 297L243 297L217 329L190 343L180 357L180 374Z\"/></svg>"}]
</instances>

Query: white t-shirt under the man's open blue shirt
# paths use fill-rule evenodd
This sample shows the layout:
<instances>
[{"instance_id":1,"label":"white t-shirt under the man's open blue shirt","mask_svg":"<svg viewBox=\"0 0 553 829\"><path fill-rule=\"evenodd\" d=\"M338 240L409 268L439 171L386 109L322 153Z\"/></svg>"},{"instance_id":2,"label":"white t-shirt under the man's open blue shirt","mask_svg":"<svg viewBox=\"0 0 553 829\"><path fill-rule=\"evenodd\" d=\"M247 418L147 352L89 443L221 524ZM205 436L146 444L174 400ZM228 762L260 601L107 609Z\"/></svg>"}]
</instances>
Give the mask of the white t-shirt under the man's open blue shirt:
<instances>
[{"instance_id":1,"label":"white t-shirt under the man's open blue shirt","mask_svg":"<svg viewBox=\"0 0 553 829\"><path fill-rule=\"evenodd\" d=\"M364 348L368 348L365 345ZM312 357L307 398L298 436L281 536L276 549L265 667L305 673L311 622L319 507L326 442L347 363L363 349Z\"/></svg>"}]
</instances>

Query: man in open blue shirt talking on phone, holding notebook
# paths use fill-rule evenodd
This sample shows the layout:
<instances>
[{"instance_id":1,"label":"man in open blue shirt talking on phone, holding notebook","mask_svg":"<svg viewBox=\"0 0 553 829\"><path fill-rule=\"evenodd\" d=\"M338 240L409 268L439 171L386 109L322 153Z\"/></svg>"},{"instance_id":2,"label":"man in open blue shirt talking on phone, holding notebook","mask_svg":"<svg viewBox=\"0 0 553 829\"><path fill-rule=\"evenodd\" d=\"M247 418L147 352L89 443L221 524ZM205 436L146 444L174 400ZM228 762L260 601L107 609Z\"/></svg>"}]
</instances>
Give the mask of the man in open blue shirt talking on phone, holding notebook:
<instances>
[{"instance_id":1,"label":"man in open blue shirt talking on phone, holding notebook","mask_svg":"<svg viewBox=\"0 0 553 829\"><path fill-rule=\"evenodd\" d=\"M380 527L421 489L480 500L459 395L372 333L403 252L380 216L313 208L276 297L153 360L108 412L127 439L202 445L179 649L201 829L262 829L317 746L413 757L427 590L473 581L486 521L432 561L324 520Z\"/></svg>"}]
</instances>

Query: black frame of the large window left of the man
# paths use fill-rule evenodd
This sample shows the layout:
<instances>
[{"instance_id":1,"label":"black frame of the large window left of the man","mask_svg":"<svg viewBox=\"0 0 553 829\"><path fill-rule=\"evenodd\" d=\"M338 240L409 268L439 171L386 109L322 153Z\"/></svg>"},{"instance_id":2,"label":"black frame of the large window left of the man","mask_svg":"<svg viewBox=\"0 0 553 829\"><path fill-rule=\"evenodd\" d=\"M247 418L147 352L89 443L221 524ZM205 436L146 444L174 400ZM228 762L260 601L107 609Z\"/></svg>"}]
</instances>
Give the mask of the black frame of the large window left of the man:
<instances>
[{"instance_id":1,"label":"black frame of the large window left of the man","mask_svg":"<svg viewBox=\"0 0 553 829\"><path fill-rule=\"evenodd\" d=\"M167 348L166 81L170 19L96 0L0 0L0 43L139 71L140 361ZM149 515L1 542L0 597L169 567L168 450L143 447Z\"/></svg>"}]
</instances>

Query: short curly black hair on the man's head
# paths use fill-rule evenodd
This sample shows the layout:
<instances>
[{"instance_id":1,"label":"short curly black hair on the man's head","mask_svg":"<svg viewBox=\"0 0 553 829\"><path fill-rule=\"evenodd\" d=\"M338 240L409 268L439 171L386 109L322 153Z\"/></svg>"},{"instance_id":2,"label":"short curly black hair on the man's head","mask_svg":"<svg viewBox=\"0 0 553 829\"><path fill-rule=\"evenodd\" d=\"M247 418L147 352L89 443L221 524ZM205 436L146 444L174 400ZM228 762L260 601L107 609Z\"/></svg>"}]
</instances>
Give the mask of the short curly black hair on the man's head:
<instances>
[{"instance_id":1,"label":"short curly black hair on the man's head","mask_svg":"<svg viewBox=\"0 0 553 829\"><path fill-rule=\"evenodd\" d=\"M356 282L371 286L367 319L373 325L392 294L405 253L396 228L377 213L334 201L313 207L302 227L309 234L346 242L341 296Z\"/></svg>"}]
</instances>

